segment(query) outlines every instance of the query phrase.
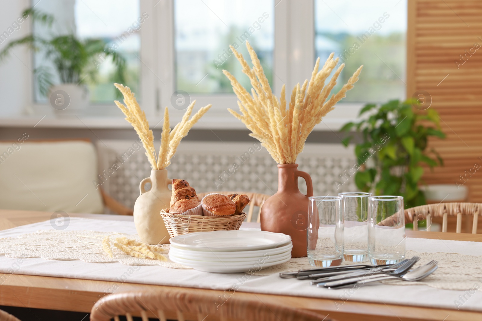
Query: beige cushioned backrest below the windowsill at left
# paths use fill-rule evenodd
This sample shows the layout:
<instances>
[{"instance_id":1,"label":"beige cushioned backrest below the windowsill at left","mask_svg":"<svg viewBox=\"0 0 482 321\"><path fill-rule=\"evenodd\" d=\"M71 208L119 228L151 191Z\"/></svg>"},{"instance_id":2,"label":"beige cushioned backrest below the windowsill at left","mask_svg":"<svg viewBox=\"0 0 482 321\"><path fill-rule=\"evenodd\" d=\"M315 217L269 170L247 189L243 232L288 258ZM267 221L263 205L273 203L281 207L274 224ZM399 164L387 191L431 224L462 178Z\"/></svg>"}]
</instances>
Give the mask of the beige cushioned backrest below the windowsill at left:
<instances>
[{"instance_id":1,"label":"beige cushioned backrest below the windowsill at left","mask_svg":"<svg viewBox=\"0 0 482 321\"><path fill-rule=\"evenodd\" d=\"M0 208L103 212L92 143L19 141L0 142Z\"/></svg>"}]
</instances>

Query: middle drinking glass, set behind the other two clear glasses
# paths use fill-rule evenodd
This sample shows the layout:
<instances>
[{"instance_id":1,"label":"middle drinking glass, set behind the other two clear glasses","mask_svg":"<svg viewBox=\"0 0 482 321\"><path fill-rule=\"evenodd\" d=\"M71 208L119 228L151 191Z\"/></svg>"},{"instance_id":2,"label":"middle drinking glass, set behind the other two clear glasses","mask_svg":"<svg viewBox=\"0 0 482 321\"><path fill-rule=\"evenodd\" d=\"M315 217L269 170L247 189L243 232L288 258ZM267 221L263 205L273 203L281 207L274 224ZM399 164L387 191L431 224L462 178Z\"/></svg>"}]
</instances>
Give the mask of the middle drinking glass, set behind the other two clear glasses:
<instances>
[{"instance_id":1,"label":"middle drinking glass, set behind the other two clear glasses","mask_svg":"<svg viewBox=\"0 0 482 321\"><path fill-rule=\"evenodd\" d=\"M343 257L349 262L368 260L368 197L372 193L338 193L345 224Z\"/></svg>"}]
</instances>

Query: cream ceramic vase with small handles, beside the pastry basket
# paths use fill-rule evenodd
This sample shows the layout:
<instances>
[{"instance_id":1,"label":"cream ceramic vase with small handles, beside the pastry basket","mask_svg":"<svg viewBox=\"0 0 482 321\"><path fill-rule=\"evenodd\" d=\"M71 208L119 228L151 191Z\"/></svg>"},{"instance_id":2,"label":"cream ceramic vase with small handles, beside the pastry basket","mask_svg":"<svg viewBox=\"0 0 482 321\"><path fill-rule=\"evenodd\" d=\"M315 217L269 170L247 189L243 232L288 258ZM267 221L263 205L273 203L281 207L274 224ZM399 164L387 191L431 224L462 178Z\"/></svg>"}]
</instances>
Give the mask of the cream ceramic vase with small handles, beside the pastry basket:
<instances>
[{"instance_id":1,"label":"cream ceramic vase with small handles, beside the pastry basket","mask_svg":"<svg viewBox=\"0 0 482 321\"><path fill-rule=\"evenodd\" d=\"M172 192L168 188L172 180L167 178L167 169L153 169L147 179L141 181L141 194L134 204L134 224L142 242L147 244L169 243L167 232L160 211L169 207ZM146 191L146 183L151 188Z\"/></svg>"}]
</instances>

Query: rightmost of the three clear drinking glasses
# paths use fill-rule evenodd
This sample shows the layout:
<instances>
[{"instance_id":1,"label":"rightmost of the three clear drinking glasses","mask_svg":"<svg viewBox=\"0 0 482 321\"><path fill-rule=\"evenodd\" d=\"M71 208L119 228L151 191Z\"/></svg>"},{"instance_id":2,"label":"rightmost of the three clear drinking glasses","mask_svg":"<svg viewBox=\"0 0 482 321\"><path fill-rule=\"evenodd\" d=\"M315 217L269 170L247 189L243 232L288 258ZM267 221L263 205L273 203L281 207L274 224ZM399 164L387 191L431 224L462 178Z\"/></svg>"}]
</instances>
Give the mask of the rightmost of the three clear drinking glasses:
<instances>
[{"instance_id":1,"label":"rightmost of the three clear drinking glasses","mask_svg":"<svg viewBox=\"0 0 482 321\"><path fill-rule=\"evenodd\" d=\"M370 196L368 256L373 265L394 264L405 257L405 215L402 196Z\"/></svg>"}]
</instances>

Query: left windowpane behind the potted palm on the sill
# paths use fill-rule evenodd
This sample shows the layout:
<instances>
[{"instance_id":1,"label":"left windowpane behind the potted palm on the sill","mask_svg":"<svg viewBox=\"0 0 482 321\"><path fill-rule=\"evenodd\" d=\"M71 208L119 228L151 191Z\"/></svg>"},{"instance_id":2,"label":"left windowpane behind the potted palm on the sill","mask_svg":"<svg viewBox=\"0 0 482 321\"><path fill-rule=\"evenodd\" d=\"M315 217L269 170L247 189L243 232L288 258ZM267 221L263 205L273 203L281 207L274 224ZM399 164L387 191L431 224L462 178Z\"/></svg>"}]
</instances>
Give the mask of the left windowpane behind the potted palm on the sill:
<instances>
[{"instance_id":1,"label":"left windowpane behind the potted palm on the sill","mask_svg":"<svg viewBox=\"0 0 482 321\"><path fill-rule=\"evenodd\" d=\"M100 50L96 50L96 53L89 55L86 64L80 66L78 77L60 77L58 67L53 62L55 54L47 57L45 50L35 53L36 70L50 73L54 84L81 81L88 86L92 103L112 103L117 94L112 83L122 79L118 75L122 67L118 68L118 66L123 64L124 84L137 93L141 64L138 58L140 57L139 31L142 23L148 19L145 13L141 15L139 2L139 0L34 0L33 5L36 10L54 16L54 23L50 27L39 22L34 24L36 36L51 40L57 36L75 35L82 44L93 45L93 40L98 40L95 46L101 47ZM113 56L105 55L102 50L119 55L120 63L115 64ZM93 52L92 47L89 51ZM39 73L36 72L36 74ZM46 102L46 98L40 93L38 79L34 81L37 101Z\"/></svg>"}]
</instances>

